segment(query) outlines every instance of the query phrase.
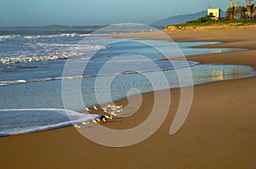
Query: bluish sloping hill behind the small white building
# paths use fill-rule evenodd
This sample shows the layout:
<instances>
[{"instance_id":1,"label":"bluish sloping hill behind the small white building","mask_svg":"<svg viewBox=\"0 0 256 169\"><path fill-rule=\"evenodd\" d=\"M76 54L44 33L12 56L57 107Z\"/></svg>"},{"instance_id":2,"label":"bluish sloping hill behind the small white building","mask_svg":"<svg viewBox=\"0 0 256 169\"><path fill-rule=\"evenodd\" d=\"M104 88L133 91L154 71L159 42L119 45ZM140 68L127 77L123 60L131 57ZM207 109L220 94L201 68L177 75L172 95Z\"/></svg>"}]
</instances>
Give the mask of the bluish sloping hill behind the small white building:
<instances>
[{"instance_id":1,"label":"bluish sloping hill behind the small white building","mask_svg":"<svg viewBox=\"0 0 256 169\"><path fill-rule=\"evenodd\" d=\"M183 24L190 20L197 20L201 17L204 17L205 15L207 15L207 10L201 11L195 14L183 14L183 15L171 16L169 18L166 18L165 20L158 20L150 25L166 26L166 25ZM223 10L220 10L220 16L221 17L225 16L225 12Z\"/></svg>"}]
</instances>

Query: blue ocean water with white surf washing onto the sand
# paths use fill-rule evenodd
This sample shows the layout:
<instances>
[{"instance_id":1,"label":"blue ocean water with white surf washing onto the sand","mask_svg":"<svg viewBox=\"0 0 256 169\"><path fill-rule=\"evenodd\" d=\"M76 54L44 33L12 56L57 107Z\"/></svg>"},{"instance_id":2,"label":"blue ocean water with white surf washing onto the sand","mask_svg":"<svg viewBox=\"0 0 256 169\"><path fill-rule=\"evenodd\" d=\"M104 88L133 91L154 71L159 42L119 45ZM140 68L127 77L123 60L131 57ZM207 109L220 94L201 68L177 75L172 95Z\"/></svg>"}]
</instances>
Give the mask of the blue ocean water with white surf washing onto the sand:
<instances>
[{"instance_id":1,"label":"blue ocean water with white surf washing onto the sand","mask_svg":"<svg viewBox=\"0 0 256 169\"><path fill-rule=\"evenodd\" d=\"M190 48L212 43L218 42L113 39L91 31L0 31L0 136L91 121L98 115L79 113L85 106L127 95L255 76L245 65L163 60L244 50ZM193 83L177 70L189 70Z\"/></svg>"}]
</instances>

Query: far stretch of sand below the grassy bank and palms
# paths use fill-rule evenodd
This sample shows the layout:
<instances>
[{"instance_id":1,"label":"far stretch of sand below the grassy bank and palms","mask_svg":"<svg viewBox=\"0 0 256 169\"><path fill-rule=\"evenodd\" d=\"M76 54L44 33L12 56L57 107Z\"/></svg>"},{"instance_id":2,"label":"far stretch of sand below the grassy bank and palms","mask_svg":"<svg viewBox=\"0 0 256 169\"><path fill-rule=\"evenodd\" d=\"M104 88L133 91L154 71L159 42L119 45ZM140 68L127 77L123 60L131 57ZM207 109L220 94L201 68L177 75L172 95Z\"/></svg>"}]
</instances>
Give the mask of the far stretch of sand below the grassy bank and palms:
<instances>
[{"instance_id":1,"label":"far stretch of sand below the grassy bank and palms","mask_svg":"<svg viewBox=\"0 0 256 169\"><path fill-rule=\"evenodd\" d=\"M102 37L113 38L137 38L153 39L173 42L219 42L217 44L208 44L190 48L242 48L245 51L225 52L219 54L200 54L187 56L187 61L197 61L200 64L220 64L220 65L249 65L256 69L256 42L254 40L254 27L243 27L235 30L183 30L183 31L155 31L145 33L131 33L106 35ZM166 34L166 37L163 36ZM216 36L216 34L218 34ZM236 36L235 36L236 35ZM170 39L171 38L171 39ZM235 56L234 56L235 54ZM245 58L241 58L243 55ZM181 57L170 58L170 60L183 60ZM221 60L221 62L220 62Z\"/></svg>"}]
</instances>

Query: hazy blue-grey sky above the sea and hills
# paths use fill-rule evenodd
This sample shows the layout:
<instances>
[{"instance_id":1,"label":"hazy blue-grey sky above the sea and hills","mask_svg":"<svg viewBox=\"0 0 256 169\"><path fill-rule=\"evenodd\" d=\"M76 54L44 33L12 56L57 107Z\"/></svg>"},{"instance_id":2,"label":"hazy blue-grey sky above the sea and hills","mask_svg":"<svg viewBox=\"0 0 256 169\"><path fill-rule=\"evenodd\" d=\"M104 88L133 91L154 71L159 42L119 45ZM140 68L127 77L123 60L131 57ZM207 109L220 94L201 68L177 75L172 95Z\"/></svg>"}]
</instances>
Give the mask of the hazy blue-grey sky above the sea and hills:
<instances>
[{"instance_id":1,"label":"hazy blue-grey sky above the sea and hills","mask_svg":"<svg viewBox=\"0 0 256 169\"><path fill-rule=\"evenodd\" d=\"M228 0L211 0L212 8ZM209 0L0 0L0 25L150 24L207 10Z\"/></svg>"}]
</instances>

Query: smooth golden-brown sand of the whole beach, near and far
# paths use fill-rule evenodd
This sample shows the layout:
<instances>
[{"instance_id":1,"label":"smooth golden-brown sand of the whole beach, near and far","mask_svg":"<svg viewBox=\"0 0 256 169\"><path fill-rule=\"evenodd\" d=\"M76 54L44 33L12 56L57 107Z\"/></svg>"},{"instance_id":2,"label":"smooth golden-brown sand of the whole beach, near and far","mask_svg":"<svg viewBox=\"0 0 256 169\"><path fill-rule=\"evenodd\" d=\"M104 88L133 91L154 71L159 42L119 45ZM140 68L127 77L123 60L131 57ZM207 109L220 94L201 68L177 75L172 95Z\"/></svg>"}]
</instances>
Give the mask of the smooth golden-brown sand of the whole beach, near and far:
<instances>
[{"instance_id":1,"label":"smooth golden-brown sand of the whole beach, near and far","mask_svg":"<svg viewBox=\"0 0 256 169\"><path fill-rule=\"evenodd\" d=\"M117 35L159 39L159 32ZM256 30L166 31L175 42L222 42L200 48L247 48L247 51L187 57L201 64L250 65L256 68ZM163 39L160 39L163 40ZM176 58L177 60L179 58ZM211 82L194 87L189 116L169 134L180 89L171 89L166 120L150 138L124 148L95 144L74 127L0 138L0 168L244 168L256 166L256 78ZM166 91L159 91L163 94ZM133 96L137 97L137 96ZM132 99L132 97L131 97ZM154 93L143 94L136 114L106 127L137 126L148 116ZM117 104L127 104L122 99Z\"/></svg>"}]
</instances>

